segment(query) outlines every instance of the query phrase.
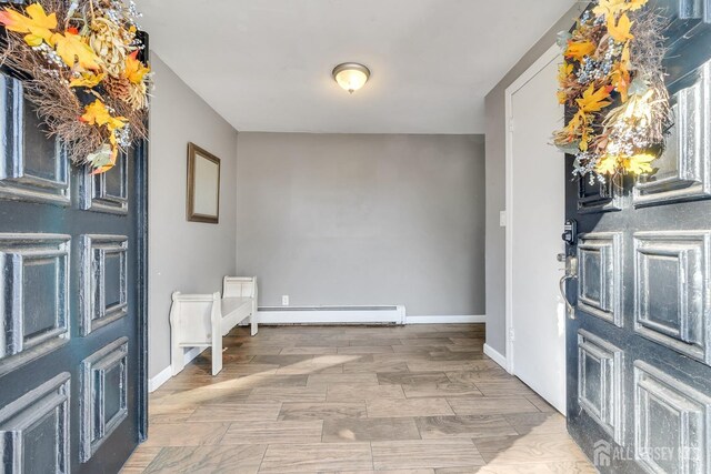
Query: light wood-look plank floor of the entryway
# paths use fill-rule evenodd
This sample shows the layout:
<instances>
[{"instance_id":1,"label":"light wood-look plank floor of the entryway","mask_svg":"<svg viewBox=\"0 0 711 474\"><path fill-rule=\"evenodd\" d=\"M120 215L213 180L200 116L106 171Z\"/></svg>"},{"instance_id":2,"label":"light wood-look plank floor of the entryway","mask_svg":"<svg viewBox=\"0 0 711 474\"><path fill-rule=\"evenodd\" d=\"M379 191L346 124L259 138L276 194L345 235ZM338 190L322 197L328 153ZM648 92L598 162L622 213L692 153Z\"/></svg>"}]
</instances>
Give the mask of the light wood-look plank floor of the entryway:
<instances>
[{"instance_id":1,"label":"light wood-look plank floor of the entryway","mask_svg":"<svg viewBox=\"0 0 711 474\"><path fill-rule=\"evenodd\" d=\"M565 420L483 355L484 326L260 327L149 402L123 473L594 473Z\"/></svg>"}]
</instances>

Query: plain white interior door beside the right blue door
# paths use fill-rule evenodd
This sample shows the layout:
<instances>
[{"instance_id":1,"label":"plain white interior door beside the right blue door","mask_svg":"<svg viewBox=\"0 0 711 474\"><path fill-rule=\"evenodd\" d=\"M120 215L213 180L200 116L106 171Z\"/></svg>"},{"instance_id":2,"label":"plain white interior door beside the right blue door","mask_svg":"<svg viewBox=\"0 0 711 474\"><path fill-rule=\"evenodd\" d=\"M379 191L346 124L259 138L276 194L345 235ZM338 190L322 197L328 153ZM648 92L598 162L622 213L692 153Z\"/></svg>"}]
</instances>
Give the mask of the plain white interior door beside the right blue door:
<instances>
[{"instance_id":1,"label":"plain white interior door beside the right blue door","mask_svg":"<svg viewBox=\"0 0 711 474\"><path fill-rule=\"evenodd\" d=\"M551 48L507 90L507 314L509 371L565 413L564 161L551 142L560 50Z\"/></svg>"}]
</instances>

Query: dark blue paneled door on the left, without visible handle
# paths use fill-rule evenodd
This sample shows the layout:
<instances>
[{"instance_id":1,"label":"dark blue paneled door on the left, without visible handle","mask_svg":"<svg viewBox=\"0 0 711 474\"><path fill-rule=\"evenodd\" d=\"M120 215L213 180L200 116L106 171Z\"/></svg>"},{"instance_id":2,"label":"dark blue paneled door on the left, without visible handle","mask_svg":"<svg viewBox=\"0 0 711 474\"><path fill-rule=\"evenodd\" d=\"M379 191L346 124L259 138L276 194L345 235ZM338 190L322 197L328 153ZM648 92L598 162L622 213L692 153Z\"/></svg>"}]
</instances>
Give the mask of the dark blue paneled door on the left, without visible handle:
<instances>
[{"instance_id":1,"label":"dark blue paneled door on the left, without visible handle","mask_svg":"<svg viewBox=\"0 0 711 474\"><path fill-rule=\"evenodd\" d=\"M146 147L106 174L0 75L0 472L116 473L146 430Z\"/></svg>"}]
</instances>

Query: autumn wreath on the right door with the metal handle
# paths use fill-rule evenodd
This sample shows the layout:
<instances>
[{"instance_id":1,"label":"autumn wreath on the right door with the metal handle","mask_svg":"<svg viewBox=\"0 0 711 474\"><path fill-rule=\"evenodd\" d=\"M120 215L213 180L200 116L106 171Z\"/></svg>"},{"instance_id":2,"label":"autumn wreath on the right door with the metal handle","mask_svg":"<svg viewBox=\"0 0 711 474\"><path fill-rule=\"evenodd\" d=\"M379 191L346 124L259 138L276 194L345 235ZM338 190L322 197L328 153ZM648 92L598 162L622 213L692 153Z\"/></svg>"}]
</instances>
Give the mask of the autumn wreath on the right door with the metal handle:
<instances>
[{"instance_id":1,"label":"autumn wreath on the right door with the metal handle","mask_svg":"<svg viewBox=\"0 0 711 474\"><path fill-rule=\"evenodd\" d=\"M553 142L575 157L573 174L591 182L654 172L672 125L664 22L647 3L599 0L559 34L559 100L570 113Z\"/></svg>"}]
</instances>

